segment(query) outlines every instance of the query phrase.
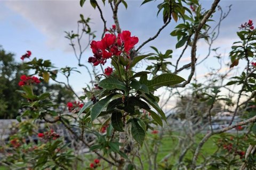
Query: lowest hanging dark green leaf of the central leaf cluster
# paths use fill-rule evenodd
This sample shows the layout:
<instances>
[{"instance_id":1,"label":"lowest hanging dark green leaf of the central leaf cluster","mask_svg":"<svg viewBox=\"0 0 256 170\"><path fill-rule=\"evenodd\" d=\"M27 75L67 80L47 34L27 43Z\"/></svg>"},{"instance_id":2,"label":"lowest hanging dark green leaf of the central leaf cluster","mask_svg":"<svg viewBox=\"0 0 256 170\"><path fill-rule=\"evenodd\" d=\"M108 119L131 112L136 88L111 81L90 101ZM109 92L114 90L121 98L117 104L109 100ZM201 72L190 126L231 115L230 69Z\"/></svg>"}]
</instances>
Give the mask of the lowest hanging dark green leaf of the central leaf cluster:
<instances>
[{"instance_id":1,"label":"lowest hanging dark green leaf of the central leaf cluster","mask_svg":"<svg viewBox=\"0 0 256 170\"><path fill-rule=\"evenodd\" d=\"M142 146L146 136L146 132L138 123L137 118L132 118L131 121L129 120L129 122L132 123L132 128L131 128L132 137L135 139L135 141L137 141L140 144L140 146Z\"/></svg>"}]
</instances>

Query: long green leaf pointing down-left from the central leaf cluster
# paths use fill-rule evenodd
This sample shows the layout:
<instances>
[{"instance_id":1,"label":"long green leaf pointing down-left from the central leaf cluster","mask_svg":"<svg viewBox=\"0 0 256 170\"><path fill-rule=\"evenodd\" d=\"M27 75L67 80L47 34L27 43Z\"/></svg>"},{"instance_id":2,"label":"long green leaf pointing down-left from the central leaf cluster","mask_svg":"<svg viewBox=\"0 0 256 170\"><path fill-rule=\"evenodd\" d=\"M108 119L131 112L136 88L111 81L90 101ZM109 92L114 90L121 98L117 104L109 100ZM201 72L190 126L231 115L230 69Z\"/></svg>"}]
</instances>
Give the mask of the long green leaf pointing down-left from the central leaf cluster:
<instances>
[{"instance_id":1,"label":"long green leaf pointing down-left from the central leaf cluster","mask_svg":"<svg viewBox=\"0 0 256 170\"><path fill-rule=\"evenodd\" d=\"M104 99L101 99L98 101L95 105L92 106L91 109L91 122L94 121L99 114L103 111L103 109L108 105L109 100L114 96L115 94L109 95Z\"/></svg>"}]
</instances>

